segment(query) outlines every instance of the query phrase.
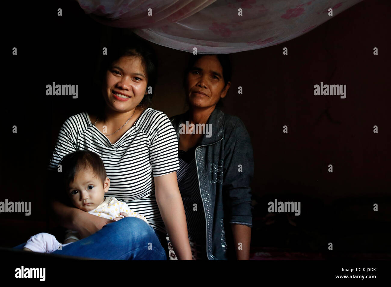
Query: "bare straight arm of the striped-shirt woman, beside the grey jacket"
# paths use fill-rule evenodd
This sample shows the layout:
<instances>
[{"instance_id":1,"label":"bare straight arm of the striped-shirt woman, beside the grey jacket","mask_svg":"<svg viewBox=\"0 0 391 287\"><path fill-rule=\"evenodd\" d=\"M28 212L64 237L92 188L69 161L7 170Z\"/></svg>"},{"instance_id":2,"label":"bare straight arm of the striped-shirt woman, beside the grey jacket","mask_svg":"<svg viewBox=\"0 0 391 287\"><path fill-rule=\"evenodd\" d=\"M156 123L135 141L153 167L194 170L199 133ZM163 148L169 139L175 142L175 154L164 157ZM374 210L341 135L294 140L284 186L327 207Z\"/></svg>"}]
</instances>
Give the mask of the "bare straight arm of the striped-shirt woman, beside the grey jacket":
<instances>
[{"instance_id":1,"label":"bare straight arm of the striped-shirt woman, beside the grey jacket","mask_svg":"<svg viewBox=\"0 0 391 287\"><path fill-rule=\"evenodd\" d=\"M179 192L176 172L155 176L155 196L161 218L179 260L192 260L185 208Z\"/></svg>"}]
</instances>

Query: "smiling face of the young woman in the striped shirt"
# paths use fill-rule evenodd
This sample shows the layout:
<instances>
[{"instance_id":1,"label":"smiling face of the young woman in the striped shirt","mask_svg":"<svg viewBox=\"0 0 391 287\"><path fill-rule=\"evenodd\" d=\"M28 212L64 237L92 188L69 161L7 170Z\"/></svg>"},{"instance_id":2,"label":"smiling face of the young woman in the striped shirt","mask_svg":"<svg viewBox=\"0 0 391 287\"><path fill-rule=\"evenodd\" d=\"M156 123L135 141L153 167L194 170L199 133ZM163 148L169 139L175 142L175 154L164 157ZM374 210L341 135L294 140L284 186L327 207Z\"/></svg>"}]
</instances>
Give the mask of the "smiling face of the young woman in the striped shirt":
<instances>
[{"instance_id":1,"label":"smiling face of the young woman in the striped shirt","mask_svg":"<svg viewBox=\"0 0 391 287\"><path fill-rule=\"evenodd\" d=\"M140 57L123 56L111 64L102 86L104 100L117 112L132 111L147 94L148 78Z\"/></svg>"}]
</instances>

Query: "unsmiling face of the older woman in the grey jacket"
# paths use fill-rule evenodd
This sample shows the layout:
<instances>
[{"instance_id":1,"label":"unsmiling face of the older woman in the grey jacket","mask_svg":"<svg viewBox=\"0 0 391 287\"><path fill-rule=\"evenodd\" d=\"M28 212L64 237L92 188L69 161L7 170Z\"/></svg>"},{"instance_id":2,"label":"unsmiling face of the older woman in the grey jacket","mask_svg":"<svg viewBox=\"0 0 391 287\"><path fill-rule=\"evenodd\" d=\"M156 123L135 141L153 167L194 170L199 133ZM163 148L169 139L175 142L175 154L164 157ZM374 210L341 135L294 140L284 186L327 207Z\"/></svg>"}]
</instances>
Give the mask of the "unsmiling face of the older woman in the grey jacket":
<instances>
[{"instance_id":1,"label":"unsmiling face of the older woman in the grey jacket","mask_svg":"<svg viewBox=\"0 0 391 287\"><path fill-rule=\"evenodd\" d=\"M224 84L219 59L215 55L205 55L194 63L187 74L185 89L189 104L193 107L213 107L226 96L230 84Z\"/></svg>"}]
</instances>

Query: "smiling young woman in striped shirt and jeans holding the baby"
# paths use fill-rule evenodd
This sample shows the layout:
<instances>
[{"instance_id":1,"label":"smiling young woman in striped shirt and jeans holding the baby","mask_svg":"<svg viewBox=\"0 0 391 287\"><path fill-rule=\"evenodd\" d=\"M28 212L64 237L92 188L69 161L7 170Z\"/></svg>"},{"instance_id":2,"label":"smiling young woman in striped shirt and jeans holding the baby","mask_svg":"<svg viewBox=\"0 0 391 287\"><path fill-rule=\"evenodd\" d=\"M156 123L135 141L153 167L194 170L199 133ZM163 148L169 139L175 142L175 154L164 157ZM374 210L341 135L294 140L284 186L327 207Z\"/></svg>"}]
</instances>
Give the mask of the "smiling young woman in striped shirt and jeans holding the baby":
<instances>
[{"instance_id":1,"label":"smiling young woman in striped shirt and jeans holding the baby","mask_svg":"<svg viewBox=\"0 0 391 287\"><path fill-rule=\"evenodd\" d=\"M121 39L108 49L102 66L104 104L68 118L59 132L49 168L76 150L97 153L110 179L108 195L127 203L150 225L126 217L113 222L60 201L53 209L63 226L84 239L55 253L99 259L166 257L165 232L180 259L191 260L185 211L176 171L175 131L163 112L146 108L156 82L156 59L146 43ZM89 95L97 101L97 95ZM104 227L104 228L102 228Z\"/></svg>"}]
</instances>

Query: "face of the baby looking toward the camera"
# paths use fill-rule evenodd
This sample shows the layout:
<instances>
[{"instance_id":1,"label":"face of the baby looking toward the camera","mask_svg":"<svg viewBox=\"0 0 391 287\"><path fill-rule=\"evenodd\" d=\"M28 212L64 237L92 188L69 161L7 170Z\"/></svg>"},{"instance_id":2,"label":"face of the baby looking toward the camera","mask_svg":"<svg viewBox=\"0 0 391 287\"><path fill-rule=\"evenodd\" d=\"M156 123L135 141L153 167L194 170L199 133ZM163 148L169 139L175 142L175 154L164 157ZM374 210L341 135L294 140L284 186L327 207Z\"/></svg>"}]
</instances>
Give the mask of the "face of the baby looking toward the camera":
<instances>
[{"instance_id":1,"label":"face of the baby looking toward the camera","mask_svg":"<svg viewBox=\"0 0 391 287\"><path fill-rule=\"evenodd\" d=\"M91 168L79 170L67 191L73 205L83 211L97 208L104 201L104 193L109 190L109 179L104 184Z\"/></svg>"}]
</instances>

